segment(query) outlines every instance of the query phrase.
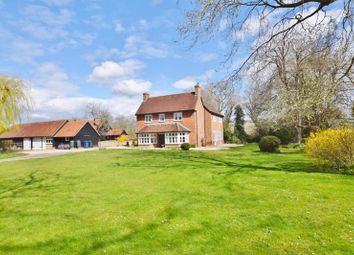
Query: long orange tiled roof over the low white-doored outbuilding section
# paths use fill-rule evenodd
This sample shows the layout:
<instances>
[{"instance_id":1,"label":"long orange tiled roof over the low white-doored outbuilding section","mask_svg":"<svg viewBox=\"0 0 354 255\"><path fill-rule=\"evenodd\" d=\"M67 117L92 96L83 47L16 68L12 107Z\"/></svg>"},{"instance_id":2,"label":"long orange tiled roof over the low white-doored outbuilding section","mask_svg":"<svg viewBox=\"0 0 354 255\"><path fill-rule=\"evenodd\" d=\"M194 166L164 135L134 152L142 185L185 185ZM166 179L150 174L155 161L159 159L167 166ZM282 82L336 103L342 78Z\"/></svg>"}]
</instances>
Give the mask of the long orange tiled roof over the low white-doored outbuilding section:
<instances>
[{"instance_id":1,"label":"long orange tiled roof over the low white-doored outbuilding section","mask_svg":"<svg viewBox=\"0 0 354 255\"><path fill-rule=\"evenodd\" d=\"M8 132L0 135L1 139L25 137L52 137L67 120L25 123L14 126Z\"/></svg>"}]
</instances>

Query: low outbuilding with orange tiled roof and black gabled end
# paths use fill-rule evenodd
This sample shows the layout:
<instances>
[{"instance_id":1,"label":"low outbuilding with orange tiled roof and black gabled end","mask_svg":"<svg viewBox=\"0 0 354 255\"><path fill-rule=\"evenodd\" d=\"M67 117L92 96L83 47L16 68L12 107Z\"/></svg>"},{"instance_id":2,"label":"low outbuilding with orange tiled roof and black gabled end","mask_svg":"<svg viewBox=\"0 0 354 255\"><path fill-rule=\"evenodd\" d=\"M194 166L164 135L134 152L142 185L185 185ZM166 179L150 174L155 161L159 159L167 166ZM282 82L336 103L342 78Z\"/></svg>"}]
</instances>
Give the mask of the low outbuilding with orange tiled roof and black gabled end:
<instances>
[{"instance_id":1,"label":"low outbuilding with orange tiled roof and black gabled end","mask_svg":"<svg viewBox=\"0 0 354 255\"><path fill-rule=\"evenodd\" d=\"M19 124L1 134L0 140L10 140L18 149L45 150L71 141L90 141L97 146L100 136L91 122L77 119Z\"/></svg>"}]
</instances>

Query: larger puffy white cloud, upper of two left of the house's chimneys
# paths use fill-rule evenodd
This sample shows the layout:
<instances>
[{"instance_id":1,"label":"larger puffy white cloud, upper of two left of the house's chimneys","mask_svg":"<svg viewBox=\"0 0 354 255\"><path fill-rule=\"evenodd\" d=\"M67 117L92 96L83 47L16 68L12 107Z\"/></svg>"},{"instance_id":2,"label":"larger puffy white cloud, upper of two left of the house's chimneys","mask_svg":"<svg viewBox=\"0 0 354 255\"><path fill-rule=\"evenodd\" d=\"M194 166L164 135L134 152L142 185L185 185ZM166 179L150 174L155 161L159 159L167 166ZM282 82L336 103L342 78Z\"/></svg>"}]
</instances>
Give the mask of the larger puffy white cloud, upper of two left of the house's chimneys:
<instances>
[{"instance_id":1,"label":"larger puffy white cloud, upper of two left of the house's chimneys","mask_svg":"<svg viewBox=\"0 0 354 255\"><path fill-rule=\"evenodd\" d=\"M136 71L143 67L144 64L135 59L128 59L119 63L105 61L93 69L88 81L98 84L112 84L118 79L134 76Z\"/></svg>"}]
</instances>

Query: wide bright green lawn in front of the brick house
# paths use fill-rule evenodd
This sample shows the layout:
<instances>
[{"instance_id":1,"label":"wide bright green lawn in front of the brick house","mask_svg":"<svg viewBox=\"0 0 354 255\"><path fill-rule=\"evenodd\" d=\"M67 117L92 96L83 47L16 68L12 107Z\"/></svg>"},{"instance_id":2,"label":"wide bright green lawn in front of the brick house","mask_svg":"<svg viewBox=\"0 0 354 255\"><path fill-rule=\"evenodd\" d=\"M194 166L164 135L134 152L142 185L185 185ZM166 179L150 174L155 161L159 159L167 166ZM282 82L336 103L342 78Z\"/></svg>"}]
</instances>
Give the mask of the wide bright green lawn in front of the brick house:
<instances>
[{"instance_id":1,"label":"wide bright green lawn in front of the brick house","mask_svg":"<svg viewBox=\"0 0 354 255\"><path fill-rule=\"evenodd\" d=\"M303 154L105 150L0 164L1 254L353 254L354 176Z\"/></svg>"}]
</instances>

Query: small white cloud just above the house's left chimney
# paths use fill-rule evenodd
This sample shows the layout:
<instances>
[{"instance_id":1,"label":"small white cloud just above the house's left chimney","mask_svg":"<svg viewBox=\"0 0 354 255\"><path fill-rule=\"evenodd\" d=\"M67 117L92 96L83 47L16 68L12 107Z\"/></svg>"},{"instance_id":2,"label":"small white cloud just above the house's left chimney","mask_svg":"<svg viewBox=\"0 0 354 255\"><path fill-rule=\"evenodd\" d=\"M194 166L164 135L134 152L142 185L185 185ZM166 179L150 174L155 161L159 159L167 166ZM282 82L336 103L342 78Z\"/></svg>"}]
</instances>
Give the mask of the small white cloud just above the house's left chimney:
<instances>
[{"instance_id":1,"label":"small white cloud just above the house's left chimney","mask_svg":"<svg viewBox=\"0 0 354 255\"><path fill-rule=\"evenodd\" d=\"M116 95L135 96L149 91L150 88L149 81L129 79L116 82L112 91Z\"/></svg>"}]
</instances>

